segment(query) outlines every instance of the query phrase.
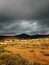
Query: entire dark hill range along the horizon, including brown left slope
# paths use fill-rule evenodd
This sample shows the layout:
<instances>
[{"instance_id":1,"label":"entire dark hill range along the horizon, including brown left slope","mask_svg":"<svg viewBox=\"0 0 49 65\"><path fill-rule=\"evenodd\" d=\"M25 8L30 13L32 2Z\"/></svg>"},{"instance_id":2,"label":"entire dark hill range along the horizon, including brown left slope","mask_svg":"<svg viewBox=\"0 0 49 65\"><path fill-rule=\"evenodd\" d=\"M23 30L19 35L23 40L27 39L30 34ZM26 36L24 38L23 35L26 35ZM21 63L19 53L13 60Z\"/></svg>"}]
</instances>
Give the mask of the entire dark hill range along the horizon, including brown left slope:
<instances>
[{"instance_id":1,"label":"entire dark hill range along the horizon, including brown left slope","mask_svg":"<svg viewBox=\"0 0 49 65\"><path fill-rule=\"evenodd\" d=\"M15 36L0 36L0 40L3 40L3 39L13 39L13 38L16 38L16 39L36 39L36 38L46 38L46 37L49 37L49 35L28 35L28 34L19 34L19 35L15 35Z\"/></svg>"}]
</instances>

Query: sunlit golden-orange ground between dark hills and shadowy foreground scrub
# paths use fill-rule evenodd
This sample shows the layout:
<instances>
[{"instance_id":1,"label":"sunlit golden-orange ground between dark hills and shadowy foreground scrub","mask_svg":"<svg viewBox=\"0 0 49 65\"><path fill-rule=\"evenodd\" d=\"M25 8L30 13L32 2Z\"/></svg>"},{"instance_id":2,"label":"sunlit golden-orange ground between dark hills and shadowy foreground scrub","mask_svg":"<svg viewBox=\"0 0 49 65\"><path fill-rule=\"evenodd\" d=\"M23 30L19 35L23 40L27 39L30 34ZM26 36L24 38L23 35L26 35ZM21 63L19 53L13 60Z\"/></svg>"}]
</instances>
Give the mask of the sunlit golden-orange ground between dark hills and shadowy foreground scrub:
<instances>
[{"instance_id":1,"label":"sunlit golden-orange ground between dark hills and shadowy foreground scrub","mask_svg":"<svg viewBox=\"0 0 49 65\"><path fill-rule=\"evenodd\" d=\"M19 54L30 63L49 65L49 38L19 40L4 40L1 45L6 51ZM39 65L39 64L37 64Z\"/></svg>"}]
</instances>

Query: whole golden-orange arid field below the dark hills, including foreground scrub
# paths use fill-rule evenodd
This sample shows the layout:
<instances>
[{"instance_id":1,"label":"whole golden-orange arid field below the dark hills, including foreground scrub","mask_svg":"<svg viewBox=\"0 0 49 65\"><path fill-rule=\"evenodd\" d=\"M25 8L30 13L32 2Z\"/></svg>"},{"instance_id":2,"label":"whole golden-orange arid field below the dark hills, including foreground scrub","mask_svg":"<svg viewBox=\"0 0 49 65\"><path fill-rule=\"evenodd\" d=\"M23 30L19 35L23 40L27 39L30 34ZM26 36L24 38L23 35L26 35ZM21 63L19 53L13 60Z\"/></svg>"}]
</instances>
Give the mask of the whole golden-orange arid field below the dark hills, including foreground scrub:
<instances>
[{"instance_id":1,"label":"whole golden-orange arid field below the dark hills, including foreground scrub","mask_svg":"<svg viewBox=\"0 0 49 65\"><path fill-rule=\"evenodd\" d=\"M16 56L18 60L15 59ZM4 60L6 58L12 61L9 59L7 62ZM1 40L0 65L49 65L49 38Z\"/></svg>"}]
</instances>

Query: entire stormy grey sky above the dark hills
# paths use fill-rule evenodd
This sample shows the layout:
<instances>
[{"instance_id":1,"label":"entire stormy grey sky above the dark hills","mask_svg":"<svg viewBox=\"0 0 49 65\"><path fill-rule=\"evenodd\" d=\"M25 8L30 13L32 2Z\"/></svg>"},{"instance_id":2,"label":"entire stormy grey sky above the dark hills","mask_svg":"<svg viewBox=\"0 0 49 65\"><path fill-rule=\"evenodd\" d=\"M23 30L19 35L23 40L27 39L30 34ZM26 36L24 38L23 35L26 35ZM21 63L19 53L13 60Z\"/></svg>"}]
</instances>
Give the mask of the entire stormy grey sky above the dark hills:
<instances>
[{"instance_id":1,"label":"entire stormy grey sky above the dark hills","mask_svg":"<svg viewBox=\"0 0 49 65\"><path fill-rule=\"evenodd\" d=\"M0 35L49 34L49 0L0 0Z\"/></svg>"}]
</instances>

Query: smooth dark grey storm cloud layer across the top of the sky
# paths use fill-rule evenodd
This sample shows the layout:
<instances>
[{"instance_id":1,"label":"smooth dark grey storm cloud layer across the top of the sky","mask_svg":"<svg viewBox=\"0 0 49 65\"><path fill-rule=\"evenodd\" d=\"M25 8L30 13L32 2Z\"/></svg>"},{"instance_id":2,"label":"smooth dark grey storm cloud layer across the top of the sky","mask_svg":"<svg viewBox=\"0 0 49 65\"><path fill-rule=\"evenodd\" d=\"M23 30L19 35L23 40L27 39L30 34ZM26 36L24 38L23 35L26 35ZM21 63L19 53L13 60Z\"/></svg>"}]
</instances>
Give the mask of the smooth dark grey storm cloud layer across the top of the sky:
<instances>
[{"instance_id":1,"label":"smooth dark grey storm cloud layer across the top of the sky","mask_svg":"<svg viewBox=\"0 0 49 65\"><path fill-rule=\"evenodd\" d=\"M40 19L47 17L49 17L49 0L0 0L0 19Z\"/></svg>"}]
</instances>

